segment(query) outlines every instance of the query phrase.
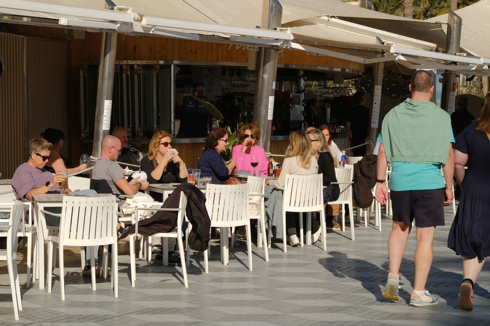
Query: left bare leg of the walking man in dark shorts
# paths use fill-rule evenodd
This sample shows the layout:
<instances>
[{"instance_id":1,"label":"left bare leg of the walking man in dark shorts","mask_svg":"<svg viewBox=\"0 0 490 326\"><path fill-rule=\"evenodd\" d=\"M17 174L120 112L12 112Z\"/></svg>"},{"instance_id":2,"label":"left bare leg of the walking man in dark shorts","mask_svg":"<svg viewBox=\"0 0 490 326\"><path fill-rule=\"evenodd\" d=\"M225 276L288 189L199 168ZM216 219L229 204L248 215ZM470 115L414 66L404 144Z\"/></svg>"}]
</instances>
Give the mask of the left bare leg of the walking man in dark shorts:
<instances>
[{"instance_id":1,"label":"left bare leg of the walking man in dark shorts","mask_svg":"<svg viewBox=\"0 0 490 326\"><path fill-rule=\"evenodd\" d=\"M411 225L404 225L403 222L393 222L392 233L388 239L388 257L392 276L400 274L401 259L407 247L411 228Z\"/></svg>"}]
</instances>

